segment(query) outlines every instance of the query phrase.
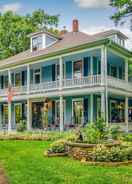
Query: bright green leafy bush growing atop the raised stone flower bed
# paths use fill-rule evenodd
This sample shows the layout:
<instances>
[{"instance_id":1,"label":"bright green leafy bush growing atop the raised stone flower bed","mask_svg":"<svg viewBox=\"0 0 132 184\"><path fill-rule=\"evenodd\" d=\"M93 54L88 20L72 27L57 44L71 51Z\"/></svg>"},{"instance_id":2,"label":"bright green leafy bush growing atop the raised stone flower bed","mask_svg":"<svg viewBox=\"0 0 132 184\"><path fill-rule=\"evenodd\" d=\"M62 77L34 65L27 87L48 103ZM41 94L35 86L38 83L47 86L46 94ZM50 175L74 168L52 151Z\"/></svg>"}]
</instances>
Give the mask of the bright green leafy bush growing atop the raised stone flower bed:
<instances>
[{"instance_id":1,"label":"bright green leafy bush growing atop the raised stone flower bed","mask_svg":"<svg viewBox=\"0 0 132 184\"><path fill-rule=\"evenodd\" d=\"M100 141L101 133L94 124L89 124L82 130L83 141L89 144L97 144Z\"/></svg>"}]
</instances>

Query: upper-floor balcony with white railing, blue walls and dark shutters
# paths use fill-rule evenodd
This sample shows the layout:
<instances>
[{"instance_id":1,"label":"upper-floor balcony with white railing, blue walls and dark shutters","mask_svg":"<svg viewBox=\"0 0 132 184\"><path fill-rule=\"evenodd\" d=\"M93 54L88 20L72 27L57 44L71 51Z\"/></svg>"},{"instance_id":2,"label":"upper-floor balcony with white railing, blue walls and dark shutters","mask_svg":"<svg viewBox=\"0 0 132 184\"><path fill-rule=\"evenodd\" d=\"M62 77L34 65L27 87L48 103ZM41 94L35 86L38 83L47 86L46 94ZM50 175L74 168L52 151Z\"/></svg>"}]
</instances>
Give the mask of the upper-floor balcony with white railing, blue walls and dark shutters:
<instances>
[{"instance_id":1,"label":"upper-floor balcony with white railing, blue walls and dark shutters","mask_svg":"<svg viewBox=\"0 0 132 184\"><path fill-rule=\"evenodd\" d=\"M128 82L128 64L110 51L107 65L100 49L31 64L0 73L0 96L8 95L9 81L13 96L43 94L76 88L108 86L132 92Z\"/></svg>"}]
</instances>

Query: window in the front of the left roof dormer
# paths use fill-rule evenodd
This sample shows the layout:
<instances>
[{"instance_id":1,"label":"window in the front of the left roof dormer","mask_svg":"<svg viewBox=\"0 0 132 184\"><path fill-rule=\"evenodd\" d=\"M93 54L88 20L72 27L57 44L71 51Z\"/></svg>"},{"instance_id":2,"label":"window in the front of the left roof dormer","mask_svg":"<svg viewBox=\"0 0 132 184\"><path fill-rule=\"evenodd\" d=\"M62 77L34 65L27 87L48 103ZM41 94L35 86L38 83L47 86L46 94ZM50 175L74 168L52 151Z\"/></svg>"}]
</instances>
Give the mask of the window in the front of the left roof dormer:
<instances>
[{"instance_id":1,"label":"window in the front of the left roof dormer","mask_svg":"<svg viewBox=\"0 0 132 184\"><path fill-rule=\"evenodd\" d=\"M32 51L40 50L42 49L42 47L43 47L42 36L32 38Z\"/></svg>"}]
</instances>

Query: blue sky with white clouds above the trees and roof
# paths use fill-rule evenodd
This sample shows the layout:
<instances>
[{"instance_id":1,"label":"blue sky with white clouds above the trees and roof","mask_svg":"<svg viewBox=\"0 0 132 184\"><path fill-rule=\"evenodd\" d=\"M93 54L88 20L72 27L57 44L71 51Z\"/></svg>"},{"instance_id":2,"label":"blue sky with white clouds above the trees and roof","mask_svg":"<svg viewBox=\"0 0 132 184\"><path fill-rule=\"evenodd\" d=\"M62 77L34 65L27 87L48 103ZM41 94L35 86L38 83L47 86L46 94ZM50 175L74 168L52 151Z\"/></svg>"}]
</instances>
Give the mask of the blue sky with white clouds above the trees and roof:
<instances>
[{"instance_id":1,"label":"blue sky with white clouds above the trees and roof","mask_svg":"<svg viewBox=\"0 0 132 184\"><path fill-rule=\"evenodd\" d=\"M66 26L71 31L72 20L79 20L80 31L93 34L115 28L110 19L115 9L109 6L109 0L0 0L0 12L12 10L18 14L31 13L44 9L51 15L60 15L59 28ZM127 46L132 49L132 32L127 26L116 27L127 34Z\"/></svg>"}]
</instances>

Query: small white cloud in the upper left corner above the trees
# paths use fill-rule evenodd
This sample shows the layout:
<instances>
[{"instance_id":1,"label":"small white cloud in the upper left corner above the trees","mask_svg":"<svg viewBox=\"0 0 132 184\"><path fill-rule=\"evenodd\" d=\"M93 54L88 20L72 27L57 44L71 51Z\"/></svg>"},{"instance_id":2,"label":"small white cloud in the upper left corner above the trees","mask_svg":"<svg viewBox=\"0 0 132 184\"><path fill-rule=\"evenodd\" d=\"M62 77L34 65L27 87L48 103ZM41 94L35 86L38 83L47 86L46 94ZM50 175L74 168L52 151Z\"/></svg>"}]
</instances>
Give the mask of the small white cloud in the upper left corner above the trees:
<instances>
[{"instance_id":1,"label":"small white cloud in the upper left corner above the trees","mask_svg":"<svg viewBox=\"0 0 132 184\"><path fill-rule=\"evenodd\" d=\"M4 4L0 6L0 11L1 12L6 12L6 11L13 11L13 12L18 12L22 8L20 3L10 3L10 4Z\"/></svg>"}]
</instances>

